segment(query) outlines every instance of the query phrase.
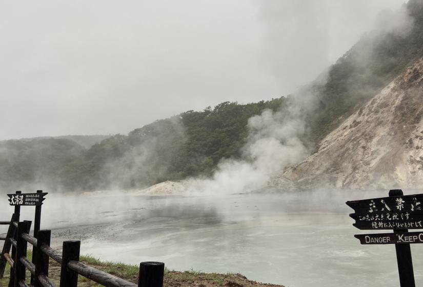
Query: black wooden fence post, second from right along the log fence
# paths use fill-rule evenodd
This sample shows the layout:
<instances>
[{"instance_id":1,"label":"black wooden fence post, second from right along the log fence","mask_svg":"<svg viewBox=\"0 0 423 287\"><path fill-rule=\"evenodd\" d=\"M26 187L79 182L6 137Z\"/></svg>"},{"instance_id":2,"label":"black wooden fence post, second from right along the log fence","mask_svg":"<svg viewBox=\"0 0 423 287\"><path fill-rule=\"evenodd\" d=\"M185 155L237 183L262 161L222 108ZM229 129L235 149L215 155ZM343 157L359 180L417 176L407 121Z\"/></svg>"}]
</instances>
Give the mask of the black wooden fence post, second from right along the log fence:
<instances>
[{"instance_id":1,"label":"black wooden fence post, second from right along the log fence","mask_svg":"<svg viewBox=\"0 0 423 287\"><path fill-rule=\"evenodd\" d=\"M60 287L76 287L78 273L68 268L69 261L79 261L80 241L64 241L62 250L62 269L60 273Z\"/></svg>"}]
</instances>

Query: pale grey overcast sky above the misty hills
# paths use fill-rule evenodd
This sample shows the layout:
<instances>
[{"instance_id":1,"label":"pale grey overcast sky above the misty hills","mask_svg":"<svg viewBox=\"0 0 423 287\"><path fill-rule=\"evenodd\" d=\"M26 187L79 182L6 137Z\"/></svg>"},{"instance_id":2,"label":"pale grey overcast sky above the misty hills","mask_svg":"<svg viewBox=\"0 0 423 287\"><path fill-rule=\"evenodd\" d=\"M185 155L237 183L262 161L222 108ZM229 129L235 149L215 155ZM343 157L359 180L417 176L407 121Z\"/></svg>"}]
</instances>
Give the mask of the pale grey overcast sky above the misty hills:
<instances>
[{"instance_id":1,"label":"pale grey overcast sky above the misty hills","mask_svg":"<svg viewBox=\"0 0 423 287\"><path fill-rule=\"evenodd\" d=\"M126 134L289 94L404 2L3 1L0 139Z\"/></svg>"}]
</instances>

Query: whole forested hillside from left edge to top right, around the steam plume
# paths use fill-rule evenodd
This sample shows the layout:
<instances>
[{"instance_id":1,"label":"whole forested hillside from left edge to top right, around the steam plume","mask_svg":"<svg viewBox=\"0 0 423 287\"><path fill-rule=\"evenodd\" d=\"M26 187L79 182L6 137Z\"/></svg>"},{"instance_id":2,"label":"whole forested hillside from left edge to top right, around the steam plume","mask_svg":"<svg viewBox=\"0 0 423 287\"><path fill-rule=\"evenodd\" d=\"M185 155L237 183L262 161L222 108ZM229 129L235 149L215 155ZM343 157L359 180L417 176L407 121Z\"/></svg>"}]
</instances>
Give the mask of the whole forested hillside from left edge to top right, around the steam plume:
<instances>
[{"instance_id":1,"label":"whole forested hillside from left edge to top right, around the steam plume","mask_svg":"<svg viewBox=\"0 0 423 287\"><path fill-rule=\"evenodd\" d=\"M210 175L219 160L241 155L250 117L265 109L289 113L292 105L299 105L305 115L307 132L302 139L313 150L342 119L423 56L423 1L411 0L403 14L400 26L381 23L329 67L325 80L293 96L250 104L225 102L184 112L128 135L111 136L89 149L72 138L0 142L0 187L5 191L27 184L66 191L143 188ZM386 23L393 17L385 15Z\"/></svg>"}]
</instances>

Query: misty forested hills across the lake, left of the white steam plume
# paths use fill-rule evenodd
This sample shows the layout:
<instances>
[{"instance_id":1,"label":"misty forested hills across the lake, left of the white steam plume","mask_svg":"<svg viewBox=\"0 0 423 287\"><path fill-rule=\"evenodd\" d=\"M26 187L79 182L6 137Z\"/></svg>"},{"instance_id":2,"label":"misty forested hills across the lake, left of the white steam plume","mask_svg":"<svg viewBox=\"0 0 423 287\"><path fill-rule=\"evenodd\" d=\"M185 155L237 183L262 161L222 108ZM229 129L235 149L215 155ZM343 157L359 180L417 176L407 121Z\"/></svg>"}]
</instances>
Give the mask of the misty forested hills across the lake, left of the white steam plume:
<instances>
[{"instance_id":1,"label":"misty forested hills across the lake, left of the white steam plume","mask_svg":"<svg viewBox=\"0 0 423 287\"><path fill-rule=\"evenodd\" d=\"M70 139L0 142L3 190L37 188L95 190L140 188L163 180L209 175L218 161L237 157L247 121L265 109L276 111L285 97L241 105L221 103L157 120L128 135L114 135L90 149Z\"/></svg>"}]
</instances>

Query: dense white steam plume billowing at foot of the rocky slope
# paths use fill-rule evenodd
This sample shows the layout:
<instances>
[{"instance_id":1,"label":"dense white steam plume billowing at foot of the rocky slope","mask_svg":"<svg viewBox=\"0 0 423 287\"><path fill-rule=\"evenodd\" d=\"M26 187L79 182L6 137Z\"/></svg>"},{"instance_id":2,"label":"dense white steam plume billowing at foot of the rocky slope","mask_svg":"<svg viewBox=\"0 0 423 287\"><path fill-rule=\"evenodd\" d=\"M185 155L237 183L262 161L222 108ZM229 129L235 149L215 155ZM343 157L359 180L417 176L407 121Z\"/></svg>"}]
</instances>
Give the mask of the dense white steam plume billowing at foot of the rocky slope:
<instances>
[{"instance_id":1,"label":"dense white steam plume billowing at foot of the rocky slope","mask_svg":"<svg viewBox=\"0 0 423 287\"><path fill-rule=\"evenodd\" d=\"M189 192L241 193L263 188L271 176L308 154L299 136L305 121L293 112L265 110L249 119L243 159L225 159L210 179L194 179Z\"/></svg>"}]
</instances>

